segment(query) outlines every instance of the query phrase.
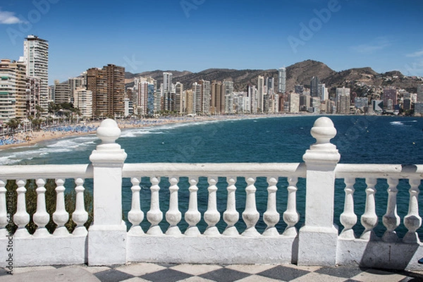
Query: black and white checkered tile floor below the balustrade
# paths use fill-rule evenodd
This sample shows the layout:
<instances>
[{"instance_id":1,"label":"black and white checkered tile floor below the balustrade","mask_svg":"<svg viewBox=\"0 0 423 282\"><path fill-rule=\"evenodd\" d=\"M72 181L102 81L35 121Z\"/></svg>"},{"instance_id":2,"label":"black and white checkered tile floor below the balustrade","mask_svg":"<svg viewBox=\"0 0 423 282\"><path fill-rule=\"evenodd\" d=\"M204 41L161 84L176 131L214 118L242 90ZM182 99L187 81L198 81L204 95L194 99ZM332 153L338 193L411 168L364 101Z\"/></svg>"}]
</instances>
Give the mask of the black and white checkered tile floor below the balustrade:
<instances>
[{"instance_id":1,"label":"black and white checkered tile floor below the balustrade","mask_svg":"<svg viewBox=\"0 0 423 282\"><path fill-rule=\"evenodd\" d=\"M75 268L88 271L94 280L102 282L272 282L272 281L423 281L423 272L387 271L376 269L360 269L357 266L295 266L295 265L204 265L204 264L149 264L134 263L125 266L39 266L15 268L14 274L35 274L52 269ZM69 269L68 269L69 270ZM0 270L1 278L6 272ZM17 276L18 276L17 275ZM15 276L15 275L14 275ZM33 276L34 277L34 276ZM95 277L95 278L94 278ZM98 279L98 280L97 280ZM72 280L63 280L72 281Z\"/></svg>"}]
</instances>

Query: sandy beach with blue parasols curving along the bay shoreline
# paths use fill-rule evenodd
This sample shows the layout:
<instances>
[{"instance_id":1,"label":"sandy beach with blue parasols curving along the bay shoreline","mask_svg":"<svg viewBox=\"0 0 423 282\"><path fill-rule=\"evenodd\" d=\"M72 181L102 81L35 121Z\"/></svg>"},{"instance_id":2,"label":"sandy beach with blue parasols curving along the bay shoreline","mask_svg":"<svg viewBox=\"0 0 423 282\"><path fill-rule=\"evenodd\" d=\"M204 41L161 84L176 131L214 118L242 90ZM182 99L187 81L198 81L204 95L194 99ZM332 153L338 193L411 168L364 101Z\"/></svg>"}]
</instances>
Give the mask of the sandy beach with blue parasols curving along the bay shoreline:
<instances>
[{"instance_id":1,"label":"sandy beach with blue parasols curving along the bay shoreline","mask_svg":"<svg viewBox=\"0 0 423 282\"><path fill-rule=\"evenodd\" d=\"M148 126L159 126L166 125L171 123L191 123L191 122L201 122L201 121L218 121L218 120L227 120L227 119L240 119L240 118L270 118L278 116L290 116L287 114L262 114L262 115L224 115L224 116L194 116L194 117L168 117L168 118L144 118L144 119L128 119L128 120L118 120L118 127L123 129L128 128L144 128ZM60 139L63 137L71 137L77 135L87 135L95 134L97 127L100 125L100 122L96 123L87 123L87 124L78 124L78 125L66 125L63 127L51 127L44 128L39 131L27 131L25 133L16 133L13 135L13 139L18 142L8 145L0 145L0 149L9 149L12 147L23 147L35 145L39 142ZM85 126L90 128L90 131L80 131L78 128ZM66 130L61 130L66 128Z\"/></svg>"}]
</instances>

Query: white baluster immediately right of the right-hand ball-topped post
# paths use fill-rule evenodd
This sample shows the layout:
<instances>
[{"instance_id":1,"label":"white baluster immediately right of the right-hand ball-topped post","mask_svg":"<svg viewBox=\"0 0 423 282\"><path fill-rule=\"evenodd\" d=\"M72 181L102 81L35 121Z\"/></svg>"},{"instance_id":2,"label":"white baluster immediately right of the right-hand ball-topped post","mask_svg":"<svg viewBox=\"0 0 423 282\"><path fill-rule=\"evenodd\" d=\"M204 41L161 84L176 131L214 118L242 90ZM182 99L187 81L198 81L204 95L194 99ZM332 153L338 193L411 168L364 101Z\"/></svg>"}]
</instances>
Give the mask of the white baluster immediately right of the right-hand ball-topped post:
<instances>
[{"instance_id":1,"label":"white baluster immediately right of the right-hand ball-topped post","mask_svg":"<svg viewBox=\"0 0 423 282\"><path fill-rule=\"evenodd\" d=\"M339 237L344 239L355 239L353 231L353 226L357 223L357 216L354 213L355 178L345 178L344 182L345 202L343 213L340 216L341 224L344 228Z\"/></svg>"}]
</instances>

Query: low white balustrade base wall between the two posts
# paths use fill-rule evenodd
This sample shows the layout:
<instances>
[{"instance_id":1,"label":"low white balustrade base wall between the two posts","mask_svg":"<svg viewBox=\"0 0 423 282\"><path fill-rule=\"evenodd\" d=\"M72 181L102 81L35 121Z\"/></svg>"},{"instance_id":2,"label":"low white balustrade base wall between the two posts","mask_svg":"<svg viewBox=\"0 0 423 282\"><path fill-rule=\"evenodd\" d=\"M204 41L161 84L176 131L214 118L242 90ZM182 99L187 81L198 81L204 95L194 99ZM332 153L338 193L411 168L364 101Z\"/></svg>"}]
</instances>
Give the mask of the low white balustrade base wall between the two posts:
<instances>
[{"instance_id":1,"label":"low white balustrade base wall between the two posts","mask_svg":"<svg viewBox=\"0 0 423 282\"><path fill-rule=\"evenodd\" d=\"M293 264L297 238L283 236L128 235L128 262L191 264Z\"/></svg>"}]
</instances>

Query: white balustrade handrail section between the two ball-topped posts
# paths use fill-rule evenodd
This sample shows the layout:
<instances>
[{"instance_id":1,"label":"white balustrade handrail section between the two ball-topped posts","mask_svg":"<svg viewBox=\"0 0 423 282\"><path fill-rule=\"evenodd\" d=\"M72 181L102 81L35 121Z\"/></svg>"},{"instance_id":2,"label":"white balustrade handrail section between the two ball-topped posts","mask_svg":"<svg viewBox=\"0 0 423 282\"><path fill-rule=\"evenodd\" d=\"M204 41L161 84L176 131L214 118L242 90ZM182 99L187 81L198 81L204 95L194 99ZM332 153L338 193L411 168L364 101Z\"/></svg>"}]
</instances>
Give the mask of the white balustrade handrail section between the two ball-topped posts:
<instances>
[{"instance_id":1,"label":"white balustrade handrail section between the two ball-topped posts","mask_svg":"<svg viewBox=\"0 0 423 282\"><path fill-rule=\"evenodd\" d=\"M143 176L285 176L305 177L304 163L124 164L123 177Z\"/></svg>"}]
</instances>

